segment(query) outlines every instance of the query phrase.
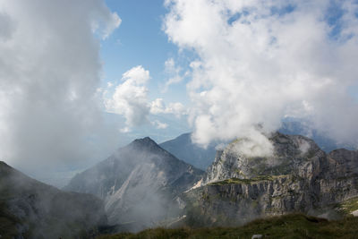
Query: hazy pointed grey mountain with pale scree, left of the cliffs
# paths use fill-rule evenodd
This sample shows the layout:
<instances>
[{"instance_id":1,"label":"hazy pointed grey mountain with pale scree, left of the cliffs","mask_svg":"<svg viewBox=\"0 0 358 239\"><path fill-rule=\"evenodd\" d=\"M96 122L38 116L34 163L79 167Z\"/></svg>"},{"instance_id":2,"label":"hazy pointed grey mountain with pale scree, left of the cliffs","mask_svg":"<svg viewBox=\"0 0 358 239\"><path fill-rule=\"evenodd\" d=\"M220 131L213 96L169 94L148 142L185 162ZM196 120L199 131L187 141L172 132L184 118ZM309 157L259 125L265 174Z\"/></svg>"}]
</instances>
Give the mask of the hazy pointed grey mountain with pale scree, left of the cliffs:
<instances>
[{"instance_id":1,"label":"hazy pointed grey mountain with pale scree, left of the cliffs","mask_svg":"<svg viewBox=\"0 0 358 239\"><path fill-rule=\"evenodd\" d=\"M109 224L138 231L175 218L176 196L203 172L144 138L72 178L65 190L94 194L106 202Z\"/></svg>"}]
</instances>

